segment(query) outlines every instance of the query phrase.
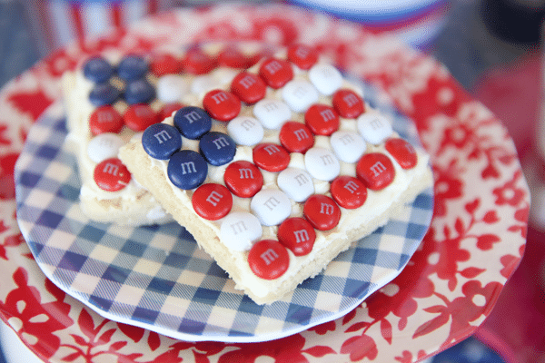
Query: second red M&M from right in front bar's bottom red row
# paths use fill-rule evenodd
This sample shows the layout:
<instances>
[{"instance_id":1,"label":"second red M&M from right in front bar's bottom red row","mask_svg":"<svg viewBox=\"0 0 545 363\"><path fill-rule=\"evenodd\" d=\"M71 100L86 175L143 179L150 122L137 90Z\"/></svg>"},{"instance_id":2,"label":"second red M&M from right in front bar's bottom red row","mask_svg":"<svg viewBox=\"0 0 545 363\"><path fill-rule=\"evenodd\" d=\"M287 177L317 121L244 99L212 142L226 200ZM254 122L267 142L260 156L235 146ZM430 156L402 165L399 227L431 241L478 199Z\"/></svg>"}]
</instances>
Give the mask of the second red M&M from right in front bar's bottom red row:
<instances>
[{"instance_id":1,"label":"second red M&M from right in front bar's bottom red row","mask_svg":"<svg viewBox=\"0 0 545 363\"><path fill-rule=\"evenodd\" d=\"M395 169L390 158L381 152L370 152L356 164L358 178L372 191L380 191L393 182Z\"/></svg>"}]
</instances>

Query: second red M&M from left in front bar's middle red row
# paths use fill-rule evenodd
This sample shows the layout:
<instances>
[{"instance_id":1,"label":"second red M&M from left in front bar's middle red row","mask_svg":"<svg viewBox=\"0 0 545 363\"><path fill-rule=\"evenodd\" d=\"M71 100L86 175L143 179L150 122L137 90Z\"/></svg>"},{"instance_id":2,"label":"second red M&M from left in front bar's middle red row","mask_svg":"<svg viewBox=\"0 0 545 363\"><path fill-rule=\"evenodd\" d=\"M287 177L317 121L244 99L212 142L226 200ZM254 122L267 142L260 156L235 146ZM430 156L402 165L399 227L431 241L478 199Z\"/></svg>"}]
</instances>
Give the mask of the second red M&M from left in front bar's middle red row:
<instances>
[{"instance_id":1,"label":"second red M&M from left in front bar's middle red row","mask_svg":"<svg viewBox=\"0 0 545 363\"><path fill-rule=\"evenodd\" d=\"M263 175L252 162L240 160L232 162L225 169L223 182L237 197L251 198L261 191Z\"/></svg>"}]
</instances>

